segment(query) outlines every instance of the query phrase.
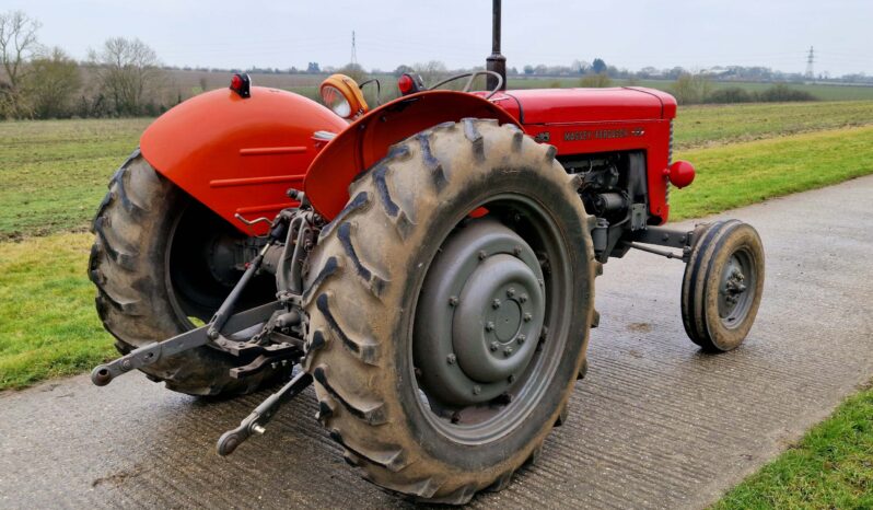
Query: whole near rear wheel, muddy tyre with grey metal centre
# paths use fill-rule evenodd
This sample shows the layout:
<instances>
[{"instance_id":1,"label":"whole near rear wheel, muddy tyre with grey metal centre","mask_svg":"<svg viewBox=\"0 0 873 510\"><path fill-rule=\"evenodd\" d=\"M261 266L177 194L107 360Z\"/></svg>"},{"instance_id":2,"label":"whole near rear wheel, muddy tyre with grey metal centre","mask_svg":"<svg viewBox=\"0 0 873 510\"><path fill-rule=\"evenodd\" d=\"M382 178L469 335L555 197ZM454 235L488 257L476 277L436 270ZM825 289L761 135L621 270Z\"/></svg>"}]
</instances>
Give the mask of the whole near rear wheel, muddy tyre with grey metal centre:
<instances>
[{"instance_id":1,"label":"whole near rear wheel, muddy tyre with grey metal centre","mask_svg":"<svg viewBox=\"0 0 873 510\"><path fill-rule=\"evenodd\" d=\"M464 503L534 459L585 360L590 219L515 126L422 131L350 186L310 258L318 418L371 482Z\"/></svg>"}]
</instances>

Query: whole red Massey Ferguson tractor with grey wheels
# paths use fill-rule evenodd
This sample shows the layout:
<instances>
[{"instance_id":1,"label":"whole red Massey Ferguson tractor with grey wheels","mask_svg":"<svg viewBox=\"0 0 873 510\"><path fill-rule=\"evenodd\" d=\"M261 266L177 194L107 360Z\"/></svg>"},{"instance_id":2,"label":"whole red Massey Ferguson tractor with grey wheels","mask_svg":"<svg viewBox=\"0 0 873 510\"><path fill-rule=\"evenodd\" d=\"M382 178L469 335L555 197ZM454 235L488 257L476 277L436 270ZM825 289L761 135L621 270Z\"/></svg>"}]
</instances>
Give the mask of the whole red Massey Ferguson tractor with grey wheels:
<instances>
[{"instance_id":1,"label":"whole red Massey Ferguson tractor with grey wheels","mask_svg":"<svg viewBox=\"0 0 873 510\"><path fill-rule=\"evenodd\" d=\"M695 176L671 159L675 100L505 91L499 9L488 70L445 81L464 91L405 74L371 109L333 76L325 107L235 74L155 120L93 224L97 312L124 355L93 382L283 383L222 455L314 382L318 420L368 479L463 503L505 487L566 419L609 257L684 260L688 336L736 348L764 252L740 221L661 227L670 184ZM488 90L468 92L481 74Z\"/></svg>"}]
</instances>

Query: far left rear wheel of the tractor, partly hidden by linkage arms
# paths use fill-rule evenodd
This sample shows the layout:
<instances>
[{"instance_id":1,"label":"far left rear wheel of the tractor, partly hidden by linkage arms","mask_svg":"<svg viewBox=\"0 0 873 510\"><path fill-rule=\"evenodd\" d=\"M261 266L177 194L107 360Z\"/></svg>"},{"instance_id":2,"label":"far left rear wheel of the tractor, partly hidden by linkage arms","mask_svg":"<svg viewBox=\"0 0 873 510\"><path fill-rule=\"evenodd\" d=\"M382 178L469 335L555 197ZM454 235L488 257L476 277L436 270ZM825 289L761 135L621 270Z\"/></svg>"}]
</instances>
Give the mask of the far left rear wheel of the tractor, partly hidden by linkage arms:
<instances>
[{"instance_id":1,"label":"far left rear wheel of the tractor, partly hidden by linkage arms","mask_svg":"<svg viewBox=\"0 0 873 510\"><path fill-rule=\"evenodd\" d=\"M216 253L241 234L158 174L139 151L109 182L92 230L89 276L97 288L97 313L121 353L209 321L240 276L231 264L218 267L228 257ZM246 304L273 293L270 281L253 282ZM200 347L141 370L191 395L246 393L277 375L232 379L229 370L240 364L245 362Z\"/></svg>"}]
</instances>

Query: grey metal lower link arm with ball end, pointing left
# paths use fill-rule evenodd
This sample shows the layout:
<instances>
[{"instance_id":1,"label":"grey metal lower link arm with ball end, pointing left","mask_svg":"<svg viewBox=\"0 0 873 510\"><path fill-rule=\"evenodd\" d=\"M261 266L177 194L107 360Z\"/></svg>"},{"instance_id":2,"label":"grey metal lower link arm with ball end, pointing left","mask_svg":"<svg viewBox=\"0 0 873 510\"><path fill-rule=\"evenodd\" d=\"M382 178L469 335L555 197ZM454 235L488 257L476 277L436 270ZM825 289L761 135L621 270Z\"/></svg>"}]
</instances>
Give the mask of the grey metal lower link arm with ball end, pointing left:
<instances>
[{"instance_id":1,"label":"grey metal lower link arm with ball end, pointing left","mask_svg":"<svg viewBox=\"0 0 873 510\"><path fill-rule=\"evenodd\" d=\"M273 312L279 309L281 309L281 304L278 301L273 301L240 312L228 318L225 328L232 332L240 332L261 324L268 321ZM98 364L91 371L91 382L97 386L105 386L109 384L113 379L123 373L156 363L163 358L205 346L210 341L209 335L207 334L208 327L209 326L201 326L164 341L142 346L114 361Z\"/></svg>"}]
</instances>

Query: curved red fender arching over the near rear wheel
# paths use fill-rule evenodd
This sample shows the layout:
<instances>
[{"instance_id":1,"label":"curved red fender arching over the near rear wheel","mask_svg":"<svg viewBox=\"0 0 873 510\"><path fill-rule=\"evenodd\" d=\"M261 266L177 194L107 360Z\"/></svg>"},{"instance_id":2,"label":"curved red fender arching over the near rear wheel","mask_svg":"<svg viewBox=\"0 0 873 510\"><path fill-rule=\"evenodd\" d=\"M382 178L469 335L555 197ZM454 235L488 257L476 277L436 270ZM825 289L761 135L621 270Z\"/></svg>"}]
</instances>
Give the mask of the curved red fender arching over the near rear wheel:
<instances>
[{"instance_id":1,"label":"curved red fender arching over the near rear wheel","mask_svg":"<svg viewBox=\"0 0 873 510\"><path fill-rule=\"evenodd\" d=\"M427 91L399 97L358 118L327 143L306 172L306 197L322 216L334 219L349 200L349 184L384 158L391 146L465 117L520 126L497 104L465 92Z\"/></svg>"}]
</instances>

